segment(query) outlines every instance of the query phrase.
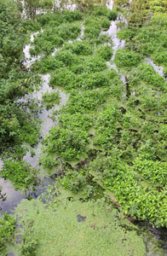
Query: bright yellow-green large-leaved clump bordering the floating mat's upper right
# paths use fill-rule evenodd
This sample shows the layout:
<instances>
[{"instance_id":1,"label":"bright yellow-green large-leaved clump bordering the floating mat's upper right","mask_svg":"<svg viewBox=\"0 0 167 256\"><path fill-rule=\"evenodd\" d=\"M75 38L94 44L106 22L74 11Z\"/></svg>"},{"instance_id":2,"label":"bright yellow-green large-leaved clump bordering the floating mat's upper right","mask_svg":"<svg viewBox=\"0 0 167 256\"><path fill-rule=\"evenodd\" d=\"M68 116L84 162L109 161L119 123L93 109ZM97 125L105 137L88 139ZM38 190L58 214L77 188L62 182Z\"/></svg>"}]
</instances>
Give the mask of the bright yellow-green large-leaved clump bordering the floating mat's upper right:
<instances>
[{"instance_id":1,"label":"bright yellow-green large-leaved clump bordering the floating mat's upper right","mask_svg":"<svg viewBox=\"0 0 167 256\"><path fill-rule=\"evenodd\" d=\"M101 178L106 188L112 191L125 214L130 214L133 218L149 218L157 226L166 225L166 187L159 192L150 183L148 186L142 183L134 166L124 164L118 155L114 154L107 157L99 155L93 161L91 170L96 173L96 177Z\"/></svg>"}]
</instances>

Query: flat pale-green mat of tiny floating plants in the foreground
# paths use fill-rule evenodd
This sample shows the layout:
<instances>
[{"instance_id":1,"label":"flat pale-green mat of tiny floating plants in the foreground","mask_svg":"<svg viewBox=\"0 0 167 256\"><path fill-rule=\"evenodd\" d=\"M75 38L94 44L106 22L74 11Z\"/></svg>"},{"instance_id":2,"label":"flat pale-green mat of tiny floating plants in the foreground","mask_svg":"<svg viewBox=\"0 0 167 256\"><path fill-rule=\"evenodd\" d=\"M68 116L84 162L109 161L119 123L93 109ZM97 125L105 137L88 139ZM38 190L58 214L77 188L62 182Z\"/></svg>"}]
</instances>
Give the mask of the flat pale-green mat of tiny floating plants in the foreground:
<instances>
[{"instance_id":1,"label":"flat pale-green mat of tiny floating plants in the foreground","mask_svg":"<svg viewBox=\"0 0 167 256\"><path fill-rule=\"evenodd\" d=\"M132 252L134 256L145 255L141 236L137 236L135 230L121 226L130 227L130 224L124 219L121 221L116 210L107 208L104 200L81 202L57 197L52 207L46 207L38 200L22 201L16 214L26 230L27 243L40 237L36 255L74 255L78 252L82 255L126 255Z\"/></svg>"}]
</instances>

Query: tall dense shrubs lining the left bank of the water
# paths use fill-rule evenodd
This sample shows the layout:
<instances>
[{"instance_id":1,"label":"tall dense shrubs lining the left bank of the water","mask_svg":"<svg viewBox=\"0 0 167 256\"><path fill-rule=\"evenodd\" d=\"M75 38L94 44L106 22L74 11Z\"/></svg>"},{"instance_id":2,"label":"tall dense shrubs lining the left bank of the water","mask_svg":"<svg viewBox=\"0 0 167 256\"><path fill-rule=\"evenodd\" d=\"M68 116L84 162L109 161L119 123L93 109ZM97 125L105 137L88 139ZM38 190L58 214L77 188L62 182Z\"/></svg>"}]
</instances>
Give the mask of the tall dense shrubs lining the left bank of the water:
<instances>
[{"instance_id":1,"label":"tall dense shrubs lining the left bank of the water","mask_svg":"<svg viewBox=\"0 0 167 256\"><path fill-rule=\"evenodd\" d=\"M23 47L26 43L24 20L20 20L20 12L14 1L0 2L0 143L9 147L26 141L37 143L39 126L37 127L35 106L32 102L18 102L33 88L35 75L26 72L22 66ZM29 108L29 113L26 108ZM30 125L31 124L31 125ZM29 137L27 133L32 133ZM32 138L33 137L33 138Z\"/></svg>"}]
</instances>

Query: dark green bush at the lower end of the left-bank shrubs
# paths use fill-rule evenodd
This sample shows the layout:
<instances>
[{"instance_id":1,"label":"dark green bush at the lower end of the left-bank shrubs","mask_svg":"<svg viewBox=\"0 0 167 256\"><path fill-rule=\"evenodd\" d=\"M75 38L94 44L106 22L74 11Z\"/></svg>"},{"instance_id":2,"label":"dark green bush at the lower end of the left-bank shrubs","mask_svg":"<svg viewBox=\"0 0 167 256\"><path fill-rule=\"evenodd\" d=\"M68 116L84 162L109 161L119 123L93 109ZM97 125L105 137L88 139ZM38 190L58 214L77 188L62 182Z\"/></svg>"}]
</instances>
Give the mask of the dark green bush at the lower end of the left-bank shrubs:
<instances>
[{"instance_id":1,"label":"dark green bush at the lower end of the left-bank shrubs","mask_svg":"<svg viewBox=\"0 0 167 256\"><path fill-rule=\"evenodd\" d=\"M27 143L36 144L39 136L40 125L37 127L36 113L27 113L26 106L18 102L5 102L0 107L0 142L2 143ZM33 105L33 104L32 104ZM36 106L29 105L33 111Z\"/></svg>"}]
</instances>

